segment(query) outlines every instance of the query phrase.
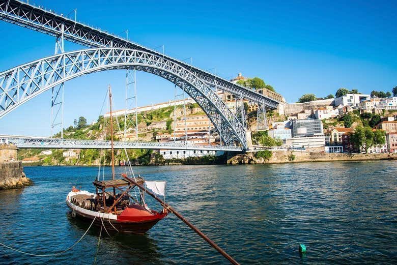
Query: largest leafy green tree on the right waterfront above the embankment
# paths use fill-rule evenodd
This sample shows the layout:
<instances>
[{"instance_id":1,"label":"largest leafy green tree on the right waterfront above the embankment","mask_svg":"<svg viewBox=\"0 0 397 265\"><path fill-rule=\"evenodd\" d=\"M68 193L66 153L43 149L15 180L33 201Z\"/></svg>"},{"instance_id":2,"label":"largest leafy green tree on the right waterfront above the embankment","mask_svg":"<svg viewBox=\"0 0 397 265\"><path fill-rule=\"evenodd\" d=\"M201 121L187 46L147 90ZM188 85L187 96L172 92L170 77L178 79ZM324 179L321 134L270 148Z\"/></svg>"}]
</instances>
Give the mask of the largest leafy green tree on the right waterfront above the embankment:
<instances>
[{"instance_id":1,"label":"largest leafy green tree on the right waterfront above the embankment","mask_svg":"<svg viewBox=\"0 0 397 265\"><path fill-rule=\"evenodd\" d=\"M365 154L368 149L377 144L385 143L384 132L381 130L373 130L371 127L357 126L351 134L352 142L359 148L363 149Z\"/></svg>"}]
</instances>

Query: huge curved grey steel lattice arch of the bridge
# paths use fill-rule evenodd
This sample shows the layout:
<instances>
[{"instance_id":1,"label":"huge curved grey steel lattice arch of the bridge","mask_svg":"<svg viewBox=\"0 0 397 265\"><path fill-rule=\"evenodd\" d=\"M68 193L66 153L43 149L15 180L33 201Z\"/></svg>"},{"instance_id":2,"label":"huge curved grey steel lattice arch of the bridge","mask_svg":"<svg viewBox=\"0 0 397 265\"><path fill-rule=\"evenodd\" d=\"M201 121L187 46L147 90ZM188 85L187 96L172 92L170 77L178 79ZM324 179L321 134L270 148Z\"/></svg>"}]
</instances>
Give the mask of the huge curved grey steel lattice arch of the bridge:
<instances>
[{"instance_id":1,"label":"huge curved grey steel lattice arch of the bridge","mask_svg":"<svg viewBox=\"0 0 397 265\"><path fill-rule=\"evenodd\" d=\"M189 69L141 50L97 48L52 55L0 73L0 117L62 82L88 73L125 69L150 72L177 84L210 116L223 141L247 149L245 129L211 87Z\"/></svg>"}]
</instances>

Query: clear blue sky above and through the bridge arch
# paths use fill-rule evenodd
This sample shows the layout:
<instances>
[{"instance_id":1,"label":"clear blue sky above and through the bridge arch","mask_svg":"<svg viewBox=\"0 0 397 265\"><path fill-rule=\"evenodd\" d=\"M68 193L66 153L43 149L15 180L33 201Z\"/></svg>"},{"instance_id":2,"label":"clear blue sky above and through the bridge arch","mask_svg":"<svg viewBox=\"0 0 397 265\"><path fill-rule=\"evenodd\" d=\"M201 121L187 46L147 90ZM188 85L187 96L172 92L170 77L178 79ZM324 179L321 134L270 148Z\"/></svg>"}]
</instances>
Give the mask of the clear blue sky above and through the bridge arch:
<instances>
[{"instance_id":1,"label":"clear blue sky above and through the bridge arch","mask_svg":"<svg viewBox=\"0 0 397 265\"><path fill-rule=\"evenodd\" d=\"M56 13L77 8L77 20L213 70L230 79L260 77L287 102L339 87L391 91L397 85L395 1L30 1ZM71 14L72 16L72 14ZM0 72L54 53L54 37L0 21ZM85 47L65 42L65 50ZM161 48L158 48L159 50ZM174 99L174 85L137 72L138 105ZM101 114L108 84L115 109L125 107L125 70L65 83L65 127ZM0 120L0 134L49 136L47 91Z\"/></svg>"}]
</instances>

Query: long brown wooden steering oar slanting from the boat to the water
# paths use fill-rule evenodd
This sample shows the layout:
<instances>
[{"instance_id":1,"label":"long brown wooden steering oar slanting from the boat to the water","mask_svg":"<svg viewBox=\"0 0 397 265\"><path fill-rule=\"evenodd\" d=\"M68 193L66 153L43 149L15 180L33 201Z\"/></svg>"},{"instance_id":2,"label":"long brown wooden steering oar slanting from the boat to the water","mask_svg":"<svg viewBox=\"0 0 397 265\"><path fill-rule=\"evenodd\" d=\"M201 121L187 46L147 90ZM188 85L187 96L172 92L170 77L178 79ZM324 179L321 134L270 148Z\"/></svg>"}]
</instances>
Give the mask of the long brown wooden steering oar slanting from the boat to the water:
<instances>
[{"instance_id":1,"label":"long brown wooden steering oar slanting from the boat to the water","mask_svg":"<svg viewBox=\"0 0 397 265\"><path fill-rule=\"evenodd\" d=\"M127 175L122 174L122 176L128 180L129 182L133 183L136 185L140 190L145 191L148 193L150 196L152 196L155 200L160 202L162 207L166 208L169 212L173 213L176 217L181 219L187 226L189 226L194 232L196 232L200 237L202 237L205 241L207 241L208 244L211 245L214 249L216 249L220 254L222 254L226 259L230 261L230 263L235 264L235 265L240 265L232 256L230 256L228 253L226 253L221 247L219 247L215 242L213 242L210 238L207 237L205 233L203 233L200 229L195 227L192 223L190 223L186 218L184 218L180 213L178 213L174 208L169 206L168 203L165 203L162 199L158 198L156 195L154 195L151 191L147 190L145 187L139 185L137 182L135 182L133 179L128 178Z\"/></svg>"}]
</instances>

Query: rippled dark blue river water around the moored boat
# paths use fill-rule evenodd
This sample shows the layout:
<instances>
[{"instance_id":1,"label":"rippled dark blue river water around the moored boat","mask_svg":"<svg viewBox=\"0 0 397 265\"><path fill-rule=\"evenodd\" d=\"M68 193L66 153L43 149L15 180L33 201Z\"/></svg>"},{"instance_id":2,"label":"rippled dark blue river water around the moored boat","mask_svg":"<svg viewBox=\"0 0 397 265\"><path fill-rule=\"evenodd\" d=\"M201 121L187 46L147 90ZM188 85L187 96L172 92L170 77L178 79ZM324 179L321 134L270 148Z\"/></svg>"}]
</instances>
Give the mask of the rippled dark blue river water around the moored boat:
<instances>
[{"instance_id":1,"label":"rippled dark blue river water around the moored boat","mask_svg":"<svg viewBox=\"0 0 397 265\"><path fill-rule=\"evenodd\" d=\"M134 170L147 180L166 180L167 202L242 264L397 262L397 161ZM88 224L71 217L65 197L72 185L93 191L98 169L24 171L34 186L0 191L0 242L36 254L67 249ZM55 257L0 246L0 263L228 263L172 214L145 235L104 234L99 248L95 228ZM307 248L303 255L299 244Z\"/></svg>"}]
</instances>

